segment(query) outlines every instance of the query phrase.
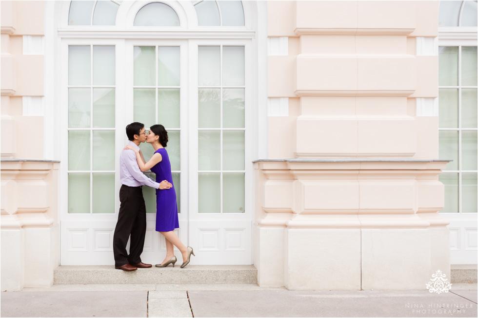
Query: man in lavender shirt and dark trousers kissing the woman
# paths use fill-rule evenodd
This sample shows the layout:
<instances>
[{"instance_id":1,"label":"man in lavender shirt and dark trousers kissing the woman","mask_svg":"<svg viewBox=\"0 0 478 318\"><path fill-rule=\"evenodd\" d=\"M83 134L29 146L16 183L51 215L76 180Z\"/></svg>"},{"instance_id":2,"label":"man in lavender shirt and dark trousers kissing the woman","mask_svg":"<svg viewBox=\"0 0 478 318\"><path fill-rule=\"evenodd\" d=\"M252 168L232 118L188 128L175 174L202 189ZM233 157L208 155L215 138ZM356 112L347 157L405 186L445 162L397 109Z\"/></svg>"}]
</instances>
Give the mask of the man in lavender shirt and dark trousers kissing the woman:
<instances>
[{"instance_id":1,"label":"man in lavender shirt and dark trousers kissing the woman","mask_svg":"<svg viewBox=\"0 0 478 318\"><path fill-rule=\"evenodd\" d=\"M146 141L146 130L141 123L131 123L126 126L129 144L139 150L139 144ZM140 150L139 150L140 151ZM133 271L139 268L149 268L151 264L141 262L144 236L146 234L146 206L144 205L142 186L169 189L171 183L166 180L154 182L139 170L136 153L133 150L121 150L119 155L119 214L113 236L113 253L115 268ZM131 235L129 255L126 243Z\"/></svg>"}]
</instances>

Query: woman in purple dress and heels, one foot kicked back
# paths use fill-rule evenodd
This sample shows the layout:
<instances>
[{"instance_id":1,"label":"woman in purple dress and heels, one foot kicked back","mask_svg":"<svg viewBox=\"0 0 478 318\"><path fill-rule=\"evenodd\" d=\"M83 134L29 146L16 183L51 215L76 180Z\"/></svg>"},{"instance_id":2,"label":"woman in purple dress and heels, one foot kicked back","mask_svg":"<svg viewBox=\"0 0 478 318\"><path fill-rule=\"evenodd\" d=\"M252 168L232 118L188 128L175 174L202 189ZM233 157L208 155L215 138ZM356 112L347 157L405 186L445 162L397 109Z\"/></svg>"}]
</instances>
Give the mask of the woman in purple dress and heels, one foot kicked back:
<instances>
[{"instance_id":1,"label":"woman in purple dress and heels, one foot kicked back","mask_svg":"<svg viewBox=\"0 0 478 318\"><path fill-rule=\"evenodd\" d=\"M168 152L164 149L168 142L168 132L162 125L153 125L149 128L149 134L146 137L146 142L153 146L155 152L148 162L144 161L142 153L136 150L131 145L127 145L124 149L131 149L136 152L136 161L141 171L151 169L156 173L156 180L167 180L173 184L171 176L171 163L169 162ZM176 263L177 259L174 256L173 245L178 247L182 254L182 265L184 268L189 263L191 254L194 255L193 248L184 246L174 232L175 228L179 228L178 222L178 205L176 204L176 191L173 187L169 189L156 189L156 231L161 233L166 239L166 258L156 267L166 267L169 264ZM196 256L196 255L194 255Z\"/></svg>"}]
</instances>

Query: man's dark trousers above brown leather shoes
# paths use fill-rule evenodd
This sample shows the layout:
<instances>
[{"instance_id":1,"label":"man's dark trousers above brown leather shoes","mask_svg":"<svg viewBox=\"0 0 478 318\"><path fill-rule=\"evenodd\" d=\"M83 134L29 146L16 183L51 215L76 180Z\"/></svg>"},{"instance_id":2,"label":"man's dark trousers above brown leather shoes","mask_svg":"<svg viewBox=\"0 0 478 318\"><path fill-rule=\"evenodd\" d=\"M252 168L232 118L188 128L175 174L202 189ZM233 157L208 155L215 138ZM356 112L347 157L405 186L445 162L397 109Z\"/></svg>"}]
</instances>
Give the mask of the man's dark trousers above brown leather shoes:
<instances>
[{"instance_id":1,"label":"man's dark trousers above brown leather shoes","mask_svg":"<svg viewBox=\"0 0 478 318\"><path fill-rule=\"evenodd\" d=\"M143 252L144 236L146 234L146 206L144 205L141 187L121 185L119 189L118 222L113 236L113 253L115 266L138 264ZM131 234L129 255L126 244Z\"/></svg>"}]
</instances>

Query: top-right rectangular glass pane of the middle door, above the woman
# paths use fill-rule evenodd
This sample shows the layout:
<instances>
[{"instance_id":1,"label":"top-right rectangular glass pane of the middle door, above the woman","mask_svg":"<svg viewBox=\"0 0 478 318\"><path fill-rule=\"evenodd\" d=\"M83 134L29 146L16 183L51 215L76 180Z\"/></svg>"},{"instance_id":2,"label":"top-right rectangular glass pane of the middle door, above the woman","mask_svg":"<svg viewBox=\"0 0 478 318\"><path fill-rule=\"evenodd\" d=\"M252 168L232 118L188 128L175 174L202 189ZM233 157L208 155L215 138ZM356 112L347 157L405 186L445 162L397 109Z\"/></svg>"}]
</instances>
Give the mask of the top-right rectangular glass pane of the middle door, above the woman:
<instances>
[{"instance_id":1,"label":"top-right rectangular glass pane of the middle door, above the woman","mask_svg":"<svg viewBox=\"0 0 478 318\"><path fill-rule=\"evenodd\" d=\"M158 86L179 86L179 46L158 47Z\"/></svg>"}]
</instances>

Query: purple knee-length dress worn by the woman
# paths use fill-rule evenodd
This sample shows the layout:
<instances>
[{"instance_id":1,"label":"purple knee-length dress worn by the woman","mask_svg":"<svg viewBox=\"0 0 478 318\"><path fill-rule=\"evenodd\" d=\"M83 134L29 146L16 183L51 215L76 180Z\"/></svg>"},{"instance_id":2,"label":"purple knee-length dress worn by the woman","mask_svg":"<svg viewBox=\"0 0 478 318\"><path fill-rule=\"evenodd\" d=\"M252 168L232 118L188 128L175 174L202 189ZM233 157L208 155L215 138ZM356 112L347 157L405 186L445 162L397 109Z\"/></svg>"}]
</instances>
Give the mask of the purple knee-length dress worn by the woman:
<instances>
[{"instance_id":1,"label":"purple knee-length dress worn by the woman","mask_svg":"<svg viewBox=\"0 0 478 318\"><path fill-rule=\"evenodd\" d=\"M162 160L151 168L151 171L156 173L156 182L160 183L167 180L173 185L169 189L156 189L156 231L169 232L179 228L176 191L171 175L168 152L164 148L159 148L156 152L162 156Z\"/></svg>"}]
</instances>

